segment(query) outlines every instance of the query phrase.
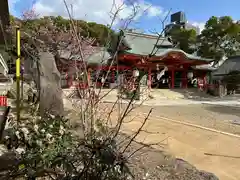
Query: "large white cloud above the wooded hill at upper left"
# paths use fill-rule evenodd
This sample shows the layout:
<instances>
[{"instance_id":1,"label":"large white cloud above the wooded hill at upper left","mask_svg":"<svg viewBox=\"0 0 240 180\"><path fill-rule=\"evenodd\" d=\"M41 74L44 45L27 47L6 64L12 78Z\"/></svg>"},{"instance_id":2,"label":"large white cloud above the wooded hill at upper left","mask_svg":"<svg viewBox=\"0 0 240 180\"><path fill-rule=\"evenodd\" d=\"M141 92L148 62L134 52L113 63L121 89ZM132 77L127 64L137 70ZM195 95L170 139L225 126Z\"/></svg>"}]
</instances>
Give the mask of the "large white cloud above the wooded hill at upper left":
<instances>
[{"instance_id":1,"label":"large white cloud above the wooded hill at upper left","mask_svg":"<svg viewBox=\"0 0 240 180\"><path fill-rule=\"evenodd\" d=\"M70 11L73 11L73 16L76 19L83 19L86 21L93 21L101 24L111 23L113 14L120 8L118 12L117 21L127 19L134 16L134 20L139 19L141 16L146 15L148 17L159 16L164 13L163 9L158 6L144 1L138 3L134 2L124 3L125 0L66 0ZM113 2L115 5L113 6ZM71 8L72 4L72 8ZM133 6L137 13L133 11ZM37 14L41 16L57 16L61 15L65 18L68 17L68 13L64 6L63 0L38 0L34 4L34 9ZM112 12L112 13L110 13ZM134 15L133 15L134 14Z\"/></svg>"}]
</instances>

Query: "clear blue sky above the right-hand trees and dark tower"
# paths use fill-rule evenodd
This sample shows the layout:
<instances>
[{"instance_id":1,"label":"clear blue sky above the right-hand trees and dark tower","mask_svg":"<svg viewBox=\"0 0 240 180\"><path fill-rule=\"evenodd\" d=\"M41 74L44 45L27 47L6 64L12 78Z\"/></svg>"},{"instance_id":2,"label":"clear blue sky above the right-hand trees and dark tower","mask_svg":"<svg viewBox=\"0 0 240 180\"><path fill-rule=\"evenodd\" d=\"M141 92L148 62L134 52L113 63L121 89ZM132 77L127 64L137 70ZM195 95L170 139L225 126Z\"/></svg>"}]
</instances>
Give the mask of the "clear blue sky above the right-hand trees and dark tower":
<instances>
[{"instance_id":1,"label":"clear blue sky above the right-hand trees and dark tower","mask_svg":"<svg viewBox=\"0 0 240 180\"><path fill-rule=\"evenodd\" d=\"M203 24L211 16L231 16L234 20L240 20L240 0L149 0L150 3L161 6L165 10L172 8L172 12L184 11L188 21L191 23ZM139 27L153 26L157 18L141 21ZM161 26L155 25L154 29L159 30Z\"/></svg>"}]
</instances>

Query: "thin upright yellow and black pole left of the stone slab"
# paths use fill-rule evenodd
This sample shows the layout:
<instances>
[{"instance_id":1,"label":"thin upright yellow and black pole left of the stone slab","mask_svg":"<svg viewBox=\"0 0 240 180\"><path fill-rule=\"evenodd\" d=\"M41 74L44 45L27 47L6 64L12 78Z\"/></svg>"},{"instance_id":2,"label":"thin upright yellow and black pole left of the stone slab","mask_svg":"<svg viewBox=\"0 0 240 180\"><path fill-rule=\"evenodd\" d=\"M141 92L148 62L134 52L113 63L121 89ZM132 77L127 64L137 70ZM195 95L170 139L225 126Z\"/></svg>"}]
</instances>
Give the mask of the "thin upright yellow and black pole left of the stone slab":
<instances>
[{"instance_id":1,"label":"thin upright yellow and black pole left of the stone slab","mask_svg":"<svg viewBox=\"0 0 240 180\"><path fill-rule=\"evenodd\" d=\"M16 60L16 85L17 85L17 123L20 121L20 29L16 29L16 49L17 49L17 60Z\"/></svg>"}]
</instances>

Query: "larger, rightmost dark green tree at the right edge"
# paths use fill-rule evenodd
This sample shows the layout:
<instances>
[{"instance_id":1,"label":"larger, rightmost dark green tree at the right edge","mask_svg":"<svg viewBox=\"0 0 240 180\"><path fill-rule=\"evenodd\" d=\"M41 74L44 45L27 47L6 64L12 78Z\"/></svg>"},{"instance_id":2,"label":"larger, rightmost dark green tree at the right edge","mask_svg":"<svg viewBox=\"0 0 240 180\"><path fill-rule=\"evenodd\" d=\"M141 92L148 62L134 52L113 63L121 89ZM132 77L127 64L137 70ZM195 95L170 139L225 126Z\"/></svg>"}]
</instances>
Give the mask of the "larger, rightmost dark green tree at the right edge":
<instances>
[{"instance_id":1,"label":"larger, rightmost dark green tree at the right edge","mask_svg":"<svg viewBox=\"0 0 240 180\"><path fill-rule=\"evenodd\" d=\"M216 61L240 50L240 25L230 16L212 16L198 37L198 54Z\"/></svg>"}]
</instances>

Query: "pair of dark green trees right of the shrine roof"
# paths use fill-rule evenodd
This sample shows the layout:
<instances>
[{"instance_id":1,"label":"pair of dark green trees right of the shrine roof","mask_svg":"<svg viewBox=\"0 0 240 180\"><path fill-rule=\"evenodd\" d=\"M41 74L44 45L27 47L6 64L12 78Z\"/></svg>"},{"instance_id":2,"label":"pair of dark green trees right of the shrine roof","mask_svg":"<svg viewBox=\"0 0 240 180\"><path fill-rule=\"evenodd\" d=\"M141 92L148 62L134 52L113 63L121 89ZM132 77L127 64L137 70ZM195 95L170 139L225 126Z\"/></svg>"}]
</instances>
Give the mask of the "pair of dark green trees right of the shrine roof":
<instances>
[{"instance_id":1,"label":"pair of dark green trees right of the shrine roof","mask_svg":"<svg viewBox=\"0 0 240 180\"><path fill-rule=\"evenodd\" d=\"M199 36L194 30L174 27L170 30L173 43L187 53L198 49L198 55L215 60L240 51L240 24L229 16L212 16Z\"/></svg>"}]
</instances>

